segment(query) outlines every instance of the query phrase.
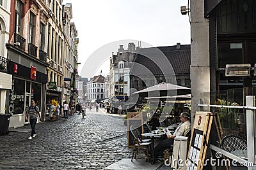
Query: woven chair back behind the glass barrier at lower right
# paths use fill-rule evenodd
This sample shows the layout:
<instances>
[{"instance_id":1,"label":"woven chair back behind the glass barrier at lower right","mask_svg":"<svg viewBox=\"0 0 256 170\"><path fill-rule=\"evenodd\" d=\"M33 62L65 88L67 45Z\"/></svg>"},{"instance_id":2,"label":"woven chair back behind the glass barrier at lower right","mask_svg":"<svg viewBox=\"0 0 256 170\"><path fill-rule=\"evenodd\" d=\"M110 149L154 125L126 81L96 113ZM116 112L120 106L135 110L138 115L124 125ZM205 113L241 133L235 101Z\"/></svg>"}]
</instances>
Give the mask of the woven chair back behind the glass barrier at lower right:
<instances>
[{"instance_id":1,"label":"woven chair back behind the glass barrier at lower right","mask_svg":"<svg viewBox=\"0 0 256 170\"><path fill-rule=\"evenodd\" d=\"M241 136L229 134L221 139L221 149L227 152L234 152L236 150L247 150L246 139Z\"/></svg>"}]
</instances>

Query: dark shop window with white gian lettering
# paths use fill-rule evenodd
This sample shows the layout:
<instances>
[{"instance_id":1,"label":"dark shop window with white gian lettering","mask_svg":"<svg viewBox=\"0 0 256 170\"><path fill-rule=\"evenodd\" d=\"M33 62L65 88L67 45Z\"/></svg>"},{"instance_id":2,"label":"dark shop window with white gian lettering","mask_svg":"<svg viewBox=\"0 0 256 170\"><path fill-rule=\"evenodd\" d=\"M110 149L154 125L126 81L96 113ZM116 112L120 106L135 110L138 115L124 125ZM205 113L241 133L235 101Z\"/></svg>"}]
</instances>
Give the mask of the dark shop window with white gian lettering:
<instances>
[{"instance_id":1,"label":"dark shop window with white gian lettering","mask_svg":"<svg viewBox=\"0 0 256 170\"><path fill-rule=\"evenodd\" d=\"M25 80L13 78L12 90L10 90L9 113L22 114L25 100Z\"/></svg>"}]
</instances>

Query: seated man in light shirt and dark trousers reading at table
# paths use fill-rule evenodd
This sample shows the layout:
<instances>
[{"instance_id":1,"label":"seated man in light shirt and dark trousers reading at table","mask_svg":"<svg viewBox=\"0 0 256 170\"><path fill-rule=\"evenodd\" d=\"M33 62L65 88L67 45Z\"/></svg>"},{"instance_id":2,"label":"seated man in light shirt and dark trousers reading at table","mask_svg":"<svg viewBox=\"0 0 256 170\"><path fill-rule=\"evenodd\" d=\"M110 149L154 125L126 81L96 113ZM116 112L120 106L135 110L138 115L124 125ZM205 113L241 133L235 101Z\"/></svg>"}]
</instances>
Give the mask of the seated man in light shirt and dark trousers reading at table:
<instances>
[{"instance_id":1,"label":"seated man in light shirt and dark trousers reading at table","mask_svg":"<svg viewBox=\"0 0 256 170\"><path fill-rule=\"evenodd\" d=\"M161 155L164 150L170 148L173 145L174 138L176 136L186 136L186 134L191 130L191 124L189 122L190 117L187 112L183 112L180 114L180 120L182 124L180 124L172 136L168 135L166 140L160 141L158 145L155 147L155 158Z\"/></svg>"}]
</instances>

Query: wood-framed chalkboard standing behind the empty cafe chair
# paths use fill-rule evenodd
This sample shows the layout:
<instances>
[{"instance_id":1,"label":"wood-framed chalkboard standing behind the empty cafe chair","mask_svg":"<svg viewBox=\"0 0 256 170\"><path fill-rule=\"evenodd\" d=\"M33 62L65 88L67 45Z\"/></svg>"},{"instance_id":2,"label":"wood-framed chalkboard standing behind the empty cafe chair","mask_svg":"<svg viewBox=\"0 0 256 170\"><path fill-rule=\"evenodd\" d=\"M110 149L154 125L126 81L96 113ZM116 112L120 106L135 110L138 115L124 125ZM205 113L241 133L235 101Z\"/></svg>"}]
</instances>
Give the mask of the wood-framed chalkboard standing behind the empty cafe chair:
<instances>
[{"instance_id":1,"label":"wood-framed chalkboard standing behind the empty cafe chair","mask_svg":"<svg viewBox=\"0 0 256 170\"><path fill-rule=\"evenodd\" d=\"M143 133L143 120L141 112L127 112L128 147L134 146L130 131L131 125L138 127L138 130Z\"/></svg>"}]
</instances>

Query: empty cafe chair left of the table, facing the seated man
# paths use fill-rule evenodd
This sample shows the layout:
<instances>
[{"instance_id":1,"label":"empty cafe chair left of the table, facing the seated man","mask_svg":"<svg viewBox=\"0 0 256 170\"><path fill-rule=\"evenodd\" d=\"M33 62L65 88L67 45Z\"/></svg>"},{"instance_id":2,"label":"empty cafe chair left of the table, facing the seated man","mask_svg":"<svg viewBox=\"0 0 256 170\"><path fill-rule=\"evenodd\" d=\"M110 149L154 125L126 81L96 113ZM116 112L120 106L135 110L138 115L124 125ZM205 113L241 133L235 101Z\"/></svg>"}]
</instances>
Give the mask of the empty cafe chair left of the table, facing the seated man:
<instances>
[{"instance_id":1,"label":"empty cafe chair left of the table, facing the seated man","mask_svg":"<svg viewBox=\"0 0 256 170\"><path fill-rule=\"evenodd\" d=\"M132 159L134 157L134 159L136 159L136 155L138 154L139 150L145 150L145 153L147 154L147 161L150 161L150 157L149 157L149 152L150 152L150 147L151 147L151 142L143 142L141 141L140 138L138 138L138 134L136 134L136 128L131 125L130 130L131 130L131 134L132 134L132 140L134 143L134 148L133 148L133 152L132 152ZM134 155L135 153L135 155ZM131 162L132 162L131 159Z\"/></svg>"}]
</instances>

